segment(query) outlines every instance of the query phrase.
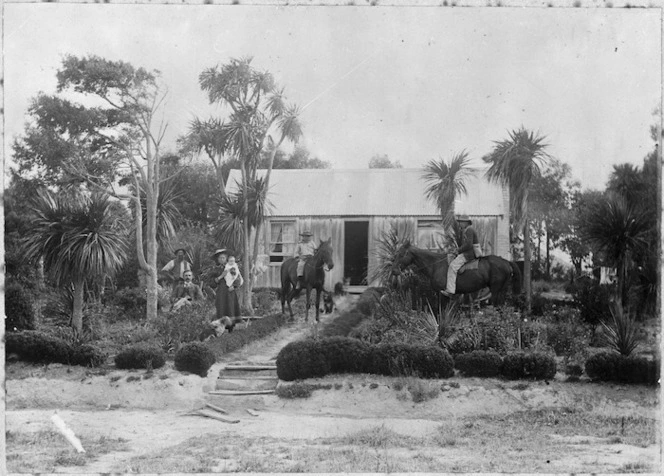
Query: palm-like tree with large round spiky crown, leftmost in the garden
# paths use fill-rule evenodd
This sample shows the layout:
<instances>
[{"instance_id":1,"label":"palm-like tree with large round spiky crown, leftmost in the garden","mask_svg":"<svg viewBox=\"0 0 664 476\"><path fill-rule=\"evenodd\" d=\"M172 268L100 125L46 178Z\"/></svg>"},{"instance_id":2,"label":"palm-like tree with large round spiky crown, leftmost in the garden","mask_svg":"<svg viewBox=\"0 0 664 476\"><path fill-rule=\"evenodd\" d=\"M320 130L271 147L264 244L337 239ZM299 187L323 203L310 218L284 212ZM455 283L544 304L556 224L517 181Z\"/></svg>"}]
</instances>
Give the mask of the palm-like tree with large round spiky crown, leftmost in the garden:
<instances>
[{"instance_id":1,"label":"palm-like tree with large round spiky crown, leftmost in the garden","mask_svg":"<svg viewBox=\"0 0 664 476\"><path fill-rule=\"evenodd\" d=\"M53 194L41 190L25 241L30 258L43 258L57 285L73 286L72 327L83 329L84 287L88 279L114 274L127 256L127 227L108 195Z\"/></svg>"}]
</instances>

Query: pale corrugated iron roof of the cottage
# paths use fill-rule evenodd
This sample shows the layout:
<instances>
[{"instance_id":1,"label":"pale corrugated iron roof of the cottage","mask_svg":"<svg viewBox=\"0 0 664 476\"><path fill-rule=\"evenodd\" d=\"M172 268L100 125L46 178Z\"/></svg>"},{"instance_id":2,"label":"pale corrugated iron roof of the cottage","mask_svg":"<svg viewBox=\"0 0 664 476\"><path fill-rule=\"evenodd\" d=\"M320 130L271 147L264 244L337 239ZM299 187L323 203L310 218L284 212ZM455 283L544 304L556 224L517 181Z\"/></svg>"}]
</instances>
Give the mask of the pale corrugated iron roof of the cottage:
<instances>
[{"instance_id":1,"label":"pale corrugated iron roof of the cottage","mask_svg":"<svg viewBox=\"0 0 664 476\"><path fill-rule=\"evenodd\" d=\"M258 171L259 176L265 174ZM507 215L506 191L478 176L467 181L467 195L456 212L473 216ZM274 169L270 177L271 216L438 216L424 195L421 169ZM239 170L231 170L226 191L238 189Z\"/></svg>"}]
</instances>

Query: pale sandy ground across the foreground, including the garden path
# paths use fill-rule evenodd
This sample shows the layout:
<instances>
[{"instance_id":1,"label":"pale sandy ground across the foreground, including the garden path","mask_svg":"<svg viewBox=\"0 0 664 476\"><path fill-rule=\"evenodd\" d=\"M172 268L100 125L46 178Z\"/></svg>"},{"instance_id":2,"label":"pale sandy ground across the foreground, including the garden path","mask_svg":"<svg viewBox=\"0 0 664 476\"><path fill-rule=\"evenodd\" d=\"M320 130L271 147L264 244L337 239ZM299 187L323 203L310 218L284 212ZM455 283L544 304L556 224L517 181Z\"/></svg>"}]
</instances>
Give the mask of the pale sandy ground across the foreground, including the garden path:
<instances>
[{"instance_id":1,"label":"pale sandy ground across the foreground, including the garden path","mask_svg":"<svg viewBox=\"0 0 664 476\"><path fill-rule=\"evenodd\" d=\"M312 331L296 322L225 356L205 379L169 365L150 376L9 363L8 470L661 472L659 388L570 383L560 375L419 383L334 375L312 380L329 388L305 399L207 394L225 364L273 361L287 342ZM409 385L435 391L415 403ZM184 415L204 402L240 423ZM84 447L99 449L75 457L52 433L55 411ZM40 438L51 438L58 452L48 453Z\"/></svg>"}]
</instances>

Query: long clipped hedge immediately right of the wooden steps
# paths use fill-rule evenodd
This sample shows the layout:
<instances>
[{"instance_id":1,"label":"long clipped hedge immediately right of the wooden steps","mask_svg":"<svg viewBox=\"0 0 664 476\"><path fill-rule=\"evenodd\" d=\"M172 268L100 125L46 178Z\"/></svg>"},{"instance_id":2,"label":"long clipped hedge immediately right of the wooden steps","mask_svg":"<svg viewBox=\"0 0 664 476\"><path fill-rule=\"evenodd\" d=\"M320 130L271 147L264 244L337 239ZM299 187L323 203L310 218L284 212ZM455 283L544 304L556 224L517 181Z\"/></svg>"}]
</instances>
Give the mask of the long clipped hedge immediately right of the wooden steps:
<instances>
[{"instance_id":1,"label":"long clipped hedge immediately right of the wooden steps","mask_svg":"<svg viewBox=\"0 0 664 476\"><path fill-rule=\"evenodd\" d=\"M454 362L439 347L371 345L344 337L291 342L277 356L277 375L285 381L345 372L447 378Z\"/></svg>"}]
</instances>

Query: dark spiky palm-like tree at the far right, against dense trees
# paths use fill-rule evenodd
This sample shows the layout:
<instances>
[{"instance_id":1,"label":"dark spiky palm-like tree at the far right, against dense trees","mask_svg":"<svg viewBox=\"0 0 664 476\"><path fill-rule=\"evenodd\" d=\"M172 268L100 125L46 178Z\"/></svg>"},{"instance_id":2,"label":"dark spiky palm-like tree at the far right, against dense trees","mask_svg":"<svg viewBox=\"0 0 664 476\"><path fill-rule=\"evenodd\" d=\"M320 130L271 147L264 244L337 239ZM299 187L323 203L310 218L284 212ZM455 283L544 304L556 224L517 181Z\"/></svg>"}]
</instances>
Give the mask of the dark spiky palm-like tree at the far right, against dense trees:
<instances>
[{"instance_id":1,"label":"dark spiky palm-like tree at the far right, against dense trees","mask_svg":"<svg viewBox=\"0 0 664 476\"><path fill-rule=\"evenodd\" d=\"M618 268L618 298L624 303L630 263L648 246L652 221L621 195L609 193L593 205L579 228L581 238L603 251Z\"/></svg>"}]
</instances>

